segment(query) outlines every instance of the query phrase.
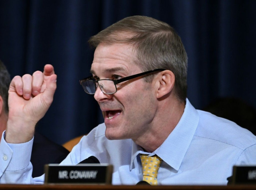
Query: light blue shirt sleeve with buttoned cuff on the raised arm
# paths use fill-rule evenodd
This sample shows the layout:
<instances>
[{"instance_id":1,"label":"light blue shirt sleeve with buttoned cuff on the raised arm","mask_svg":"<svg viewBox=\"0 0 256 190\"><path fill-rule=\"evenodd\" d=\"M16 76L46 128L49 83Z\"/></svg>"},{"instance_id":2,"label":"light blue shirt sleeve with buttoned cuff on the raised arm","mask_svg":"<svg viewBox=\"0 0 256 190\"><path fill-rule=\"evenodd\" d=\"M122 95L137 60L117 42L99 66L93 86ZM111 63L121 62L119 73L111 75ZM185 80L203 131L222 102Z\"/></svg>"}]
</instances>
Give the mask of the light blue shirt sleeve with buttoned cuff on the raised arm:
<instances>
[{"instance_id":1,"label":"light blue shirt sleeve with buttoned cuff on the raised arm","mask_svg":"<svg viewBox=\"0 0 256 190\"><path fill-rule=\"evenodd\" d=\"M5 132L0 142L0 183L38 184L43 183L44 176L32 178L30 162L33 139L21 144L5 141Z\"/></svg>"}]
</instances>

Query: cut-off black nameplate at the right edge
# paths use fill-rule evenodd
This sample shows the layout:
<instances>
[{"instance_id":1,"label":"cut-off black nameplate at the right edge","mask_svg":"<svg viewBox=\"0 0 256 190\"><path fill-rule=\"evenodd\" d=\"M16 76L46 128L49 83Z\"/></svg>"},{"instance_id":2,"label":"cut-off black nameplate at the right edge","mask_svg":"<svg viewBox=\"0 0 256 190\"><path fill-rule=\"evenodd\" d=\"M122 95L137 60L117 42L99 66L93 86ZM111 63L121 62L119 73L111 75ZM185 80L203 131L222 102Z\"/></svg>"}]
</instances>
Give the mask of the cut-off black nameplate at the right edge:
<instances>
[{"instance_id":1,"label":"cut-off black nameplate at the right edge","mask_svg":"<svg viewBox=\"0 0 256 190\"><path fill-rule=\"evenodd\" d=\"M256 184L256 166L233 166L233 184Z\"/></svg>"}]
</instances>

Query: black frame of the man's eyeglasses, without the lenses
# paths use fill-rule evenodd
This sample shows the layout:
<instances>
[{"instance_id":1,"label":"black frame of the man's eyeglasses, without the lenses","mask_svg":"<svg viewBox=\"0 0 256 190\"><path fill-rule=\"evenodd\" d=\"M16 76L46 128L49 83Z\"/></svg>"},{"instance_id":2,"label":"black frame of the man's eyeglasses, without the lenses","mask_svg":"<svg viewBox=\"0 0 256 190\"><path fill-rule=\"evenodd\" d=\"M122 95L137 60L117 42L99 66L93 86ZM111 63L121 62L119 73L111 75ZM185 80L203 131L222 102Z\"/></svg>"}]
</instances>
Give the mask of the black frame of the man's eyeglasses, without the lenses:
<instances>
[{"instance_id":1,"label":"black frame of the man's eyeglasses, without the lenses","mask_svg":"<svg viewBox=\"0 0 256 190\"><path fill-rule=\"evenodd\" d=\"M96 83L98 83L98 82L101 81L101 80L113 81L113 82L114 82L114 85L115 85L115 92L117 92L117 86L116 86L116 84L119 84L119 83L124 82L124 81L128 81L128 80L130 80L130 79L137 78L137 77L142 76L142 75L145 75L145 74L149 74L149 73L156 72L156 71L164 71L164 70L166 70L166 69L154 69L154 70L150 70L150 71L145 71L145 72L142 72L142 73L134 74L134 75L131 75L131 76L126 76L126 77L124 77L124 78L117 79L117 80L112 80L112 79L100 79L100 80L97 80L97 81L93 81L93 80L90 80L91 78L93 78L93 75L91 75L91 76L88 76L88 77L86 77L86 78L84 78L84 79L82 79L82 80L79 80L79 82L80 82L80 84L82 85L82 82L83 82L83 81L90 80L90 81L93 81L94 84L95 84L95 87L97 87L97 86L96 86ZM83 87L83 85L82 85L82 87ZM101 85L99 85L99 87L101 88ZM96 90L96 88L95 88L95 90ZM101 89L101 91L103 92L102 89ZM85 92L86 92L86 91L85 91ZM104 94L114 94L115 92L113 92L113 93L104 93L104 92L103 92L103 93L104 93ZM88 93L88 92L86 92L86 93ZM88 93L88 94L92 94L92 93ZM93 93L93 94L94 94L94 93Z\"/></svg>"}]
</instances>

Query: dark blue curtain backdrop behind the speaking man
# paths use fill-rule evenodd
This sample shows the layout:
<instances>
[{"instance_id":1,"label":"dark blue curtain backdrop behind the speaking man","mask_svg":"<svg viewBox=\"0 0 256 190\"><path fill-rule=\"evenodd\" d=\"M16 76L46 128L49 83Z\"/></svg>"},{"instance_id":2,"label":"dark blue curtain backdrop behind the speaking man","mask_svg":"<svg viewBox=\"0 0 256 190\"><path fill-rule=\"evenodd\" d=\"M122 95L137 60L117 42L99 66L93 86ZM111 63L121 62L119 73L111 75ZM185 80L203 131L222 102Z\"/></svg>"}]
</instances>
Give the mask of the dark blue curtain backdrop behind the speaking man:
<instances>
[{"instance_id":1,"label":"dark blue curtain backdrop behind the speaking man","mask_svg":"<svg viewBox=\"0 0 256 190\"><path fill-rule=\"evenodd\" d=\"M0 0L0 59L11 77L54 65L57 91L37 130L59 144L103 122L79 84L93 60L87 40L132 15L165 21L181 36L195 108L226 96L256 107L255 8L254 0Z\"/></svg>"}]
</instances>

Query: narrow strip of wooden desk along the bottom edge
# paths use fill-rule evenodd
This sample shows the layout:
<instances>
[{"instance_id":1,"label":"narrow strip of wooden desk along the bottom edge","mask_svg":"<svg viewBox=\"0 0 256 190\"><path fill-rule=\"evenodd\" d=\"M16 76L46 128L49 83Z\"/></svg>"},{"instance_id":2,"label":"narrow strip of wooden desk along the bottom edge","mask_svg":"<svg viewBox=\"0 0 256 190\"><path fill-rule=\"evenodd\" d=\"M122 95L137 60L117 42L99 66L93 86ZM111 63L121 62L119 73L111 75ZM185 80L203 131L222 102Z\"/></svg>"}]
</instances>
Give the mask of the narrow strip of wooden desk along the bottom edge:
<instances>
[{"instance_id":1,"label":"narrow strip of wooden desk along the bottom edge","mask_svg":"<svg viewBox=\"0 0 256 190\"><path fill-rule=\"evenodd\" d=\"M111 186L111 185L70 185L70 184L47 184L47 185L17 185L0 184L0 190L9 189L35 189L35 190L256 190L256 185L236 186Z\"/></svg>"}]
</instances>

